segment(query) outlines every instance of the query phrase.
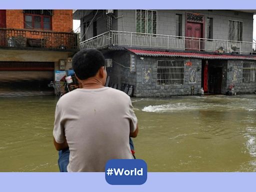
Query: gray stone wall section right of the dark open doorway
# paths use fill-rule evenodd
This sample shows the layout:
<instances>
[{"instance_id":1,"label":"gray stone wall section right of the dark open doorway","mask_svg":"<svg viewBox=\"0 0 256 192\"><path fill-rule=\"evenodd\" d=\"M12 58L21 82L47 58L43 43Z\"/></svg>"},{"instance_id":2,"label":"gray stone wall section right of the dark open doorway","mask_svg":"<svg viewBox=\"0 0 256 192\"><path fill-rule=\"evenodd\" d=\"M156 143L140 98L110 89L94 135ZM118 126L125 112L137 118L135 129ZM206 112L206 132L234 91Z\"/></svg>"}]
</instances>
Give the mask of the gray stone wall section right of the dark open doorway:
<instances>
[{"instance_id":1,"label":"gray stone wall section right of the dark open doorway","mask_svg":"<svg viewBox=\"0 0 256 192\"><path fill-rule=\"evenodd\" d=\"M234 84L234 91L237 93L251 93L256 91L256 82L242 82L243 62L252 62L246 60L228 60L227 61L227 83L226 90L229 90L229 85Z\"/></svg>"}]
</instances>

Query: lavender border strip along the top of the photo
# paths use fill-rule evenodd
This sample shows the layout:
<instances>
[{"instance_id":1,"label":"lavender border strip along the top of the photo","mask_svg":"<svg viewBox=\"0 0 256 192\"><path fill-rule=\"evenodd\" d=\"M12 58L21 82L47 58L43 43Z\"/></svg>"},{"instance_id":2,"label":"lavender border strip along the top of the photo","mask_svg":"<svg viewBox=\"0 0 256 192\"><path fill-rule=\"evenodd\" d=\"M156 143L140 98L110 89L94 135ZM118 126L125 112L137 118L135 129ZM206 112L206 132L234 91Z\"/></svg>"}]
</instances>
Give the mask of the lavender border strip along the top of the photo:
<instances>
[{"instance_id":1,"label":"lavender border strip along the top of the photo","mask_svg":"<svg viewBox=\"0 0 256 192\"><path fill-rule=\"evenodd\" d=\"M256 9L253 0L1 0L0 9Z\"/></svg>"}]
</instances>

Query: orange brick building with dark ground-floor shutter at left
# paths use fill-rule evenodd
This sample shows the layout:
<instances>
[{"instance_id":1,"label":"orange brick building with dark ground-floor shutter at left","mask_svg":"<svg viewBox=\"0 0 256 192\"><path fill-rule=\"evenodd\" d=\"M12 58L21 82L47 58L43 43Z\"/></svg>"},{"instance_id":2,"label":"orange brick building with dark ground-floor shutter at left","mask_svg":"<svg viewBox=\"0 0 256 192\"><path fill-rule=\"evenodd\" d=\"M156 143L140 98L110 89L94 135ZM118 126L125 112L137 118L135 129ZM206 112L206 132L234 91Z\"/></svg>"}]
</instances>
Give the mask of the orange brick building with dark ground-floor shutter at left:
<instances>
[{"instance_id":1,"label":"orange brick building with dark ground-floor shutter at left","mask_svg":"<svg viewBox=\"0 0 256 192\"><path fill-rule=\"evenodd\" d=\"M72 10L0 10L0 95L53 93L78 48Z\"/></svg>"}]
</instances>

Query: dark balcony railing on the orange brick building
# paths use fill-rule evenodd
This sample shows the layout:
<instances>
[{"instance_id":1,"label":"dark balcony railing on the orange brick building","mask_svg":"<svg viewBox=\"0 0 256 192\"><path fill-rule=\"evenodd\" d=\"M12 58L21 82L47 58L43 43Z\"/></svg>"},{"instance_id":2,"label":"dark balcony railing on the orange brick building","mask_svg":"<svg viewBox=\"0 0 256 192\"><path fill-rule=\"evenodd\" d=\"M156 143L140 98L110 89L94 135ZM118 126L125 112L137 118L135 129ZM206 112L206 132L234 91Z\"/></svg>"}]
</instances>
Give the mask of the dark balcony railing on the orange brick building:
<instances>
[{"instance_id":1,"label":"dark balcony railing on the orange brick building","mask_svg":"<svg viewBox=\"0 0 256 192\"><path fill-rule=\"evenodd\" d=\"M0 28L0 47L78 49L78 34L31 29Z\"/></svg>"}]
</instances>

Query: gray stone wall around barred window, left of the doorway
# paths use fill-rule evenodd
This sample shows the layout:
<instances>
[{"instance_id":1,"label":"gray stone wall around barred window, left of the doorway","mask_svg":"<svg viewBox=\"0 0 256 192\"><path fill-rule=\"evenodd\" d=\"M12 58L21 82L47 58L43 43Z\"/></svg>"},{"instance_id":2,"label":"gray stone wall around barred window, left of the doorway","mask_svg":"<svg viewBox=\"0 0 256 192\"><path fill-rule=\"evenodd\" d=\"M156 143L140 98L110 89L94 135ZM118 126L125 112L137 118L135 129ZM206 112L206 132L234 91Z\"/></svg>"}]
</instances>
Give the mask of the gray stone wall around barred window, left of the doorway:
<instances>
[{"instance_id":1,"label":"gray stone wall around barred window, left of the doorway","mask_svg":"<svg viewBox=\"0 0 256 192\"><path fill-rule=\"evenodd\" d=\"M184 83L182 85L158 85L157 84L157 60L184 61ZM191 62L187 66L186 62ZM195 69L195 82L189 83L189 68ZM149 70L149 80L144 80L144 71ZM143 57L136 56L136 94L135 96L171 96L190 95L191 86L194 86L194 94L201 87L201 59L187 59L175 57Z\"/></svg>"}]
</instances>

